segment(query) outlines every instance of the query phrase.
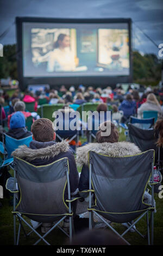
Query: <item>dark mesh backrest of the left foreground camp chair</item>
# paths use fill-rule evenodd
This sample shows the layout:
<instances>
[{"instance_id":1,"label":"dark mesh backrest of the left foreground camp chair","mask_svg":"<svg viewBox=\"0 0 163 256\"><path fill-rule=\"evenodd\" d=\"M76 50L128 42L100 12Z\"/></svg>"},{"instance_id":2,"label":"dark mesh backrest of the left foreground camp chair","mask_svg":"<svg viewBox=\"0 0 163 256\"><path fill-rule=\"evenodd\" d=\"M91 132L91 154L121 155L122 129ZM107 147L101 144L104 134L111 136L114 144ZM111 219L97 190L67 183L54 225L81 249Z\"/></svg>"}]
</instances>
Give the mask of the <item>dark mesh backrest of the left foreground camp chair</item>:
<instances>
[{"instance_id":1,"label":"dark mesh backrest of the left foreground camp chair","mask_svg":"<svg viewBox=\"0 0 163 256\"><path fill-rule=\"evenodd\" d=\"M19 212L34 215L61 215L66 213L64 189L66 186L67 157L46 166L33 166L14 158L16 178L21 191L17 205Z\"/></svg>"}]
</instances>

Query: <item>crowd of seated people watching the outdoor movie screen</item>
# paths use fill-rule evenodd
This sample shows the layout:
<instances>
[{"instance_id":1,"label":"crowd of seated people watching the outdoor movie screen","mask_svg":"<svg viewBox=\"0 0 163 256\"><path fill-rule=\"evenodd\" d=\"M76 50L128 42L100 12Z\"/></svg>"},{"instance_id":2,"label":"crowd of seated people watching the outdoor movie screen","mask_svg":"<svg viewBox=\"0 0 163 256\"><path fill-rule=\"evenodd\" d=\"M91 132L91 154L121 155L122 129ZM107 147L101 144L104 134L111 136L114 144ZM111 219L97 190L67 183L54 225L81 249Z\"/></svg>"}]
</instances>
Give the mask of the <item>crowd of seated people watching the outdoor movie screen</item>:
<instances>
[{"instance_id":1,"label":"crowd of seated people watching the outdoor movie screen","mask_svg":"<svg viewBox=\"0 0 163 256\"><path fill-rule=\"evenodd\" d=\"M26 129L26 119L33 113L26 111L26 102L35 102L34 112L39 108L39 100L45 99L49 105L63 103L65 106L82 105L86 102L98 102L97 111L106 112L108 106L112 109L112 120L118 120L122 123L127 123L131 115L143 118L143 111L157 111L159 122L163 120L163 107L161 95L163 88L157 89L148 87L140 92L132 87L129 87L125 92L122 87L112 89L111 87L93 88L80 85L77 89L71 86L67 89L61 86L60 89L49 89L38 91L35 94L32 92L21 93L17 90L11 97L7 93L2 93L0 97L1 104L1 124L7 119L8 132L7 134L16 139L33 136L33 141L29 147L22 145L17 148L12 156L26 160L35 166L43 166L54 161L67 157L70 167L70 187L73 194L77 194L89 189L89 169L87 153L95 151L108 156L123 157L127 155L139 154L141 150L134 143L118 142L119 134L117 126L114 122L106 120L103 124L99 124L99 131L95 133L96 139L93 143L87 143L83 147L78 147L76 150L76 158L70 149L70 145L66 140L55 142L55 129L53 122L46 117L40 118L33 115L33 125L31 131ZM4 102L9 105L8 116L4 111ZM101 127L110 122L111 133L109 136L101 135ZM156 123L156 127L158 123ZM159 123L159 132L162 134L162 127ZM162 143L162 138L159 138L159 145ZM77 168L81 167L82 172L79 175ZM65 191L65 199L67 198L67 188ZM145 199L148 202L151 200L151 195L146 193ZM74 212L76 211L77 203L73 203ZM42 232L46 232L52 223L43 225ZM124 223L127 227L127 223Z\"/></svg>"}]
</instances>

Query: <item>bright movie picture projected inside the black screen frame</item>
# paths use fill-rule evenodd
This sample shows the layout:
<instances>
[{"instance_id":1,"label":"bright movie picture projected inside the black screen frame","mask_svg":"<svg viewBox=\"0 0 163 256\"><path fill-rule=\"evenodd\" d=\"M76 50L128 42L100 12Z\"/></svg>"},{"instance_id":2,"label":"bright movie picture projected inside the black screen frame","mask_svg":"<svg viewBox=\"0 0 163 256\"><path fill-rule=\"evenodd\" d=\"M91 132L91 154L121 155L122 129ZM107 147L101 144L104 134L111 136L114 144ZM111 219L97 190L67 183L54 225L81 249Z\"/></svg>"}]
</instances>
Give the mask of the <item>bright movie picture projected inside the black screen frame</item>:
<instances>
[{"instance_id":1,"label":"bright movie picture projected inside the black screen frame","mask_svg":"<svg viewBox=\"0 0 163 256\"><path fill-rule=\"evenodd\" d=\"M127 24L107 26L23 23L24 77L129 75Z\"/></svg>"}]
</instances>

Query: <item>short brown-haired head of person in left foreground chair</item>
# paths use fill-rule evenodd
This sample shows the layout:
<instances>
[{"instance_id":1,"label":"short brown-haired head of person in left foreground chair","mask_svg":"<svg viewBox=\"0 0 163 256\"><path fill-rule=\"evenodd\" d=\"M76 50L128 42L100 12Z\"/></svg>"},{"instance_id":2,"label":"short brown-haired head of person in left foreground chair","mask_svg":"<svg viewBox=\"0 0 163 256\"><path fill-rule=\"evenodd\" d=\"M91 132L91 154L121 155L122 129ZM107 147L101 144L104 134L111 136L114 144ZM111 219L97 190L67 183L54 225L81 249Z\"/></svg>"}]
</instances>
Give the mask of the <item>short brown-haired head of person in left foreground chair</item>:
<instances>
[{"instance_id":1,"label":"short brown-haired head of person in left foreground chair","mask_svg":"<svg viewBox=\"0 0 163 256\"><path fill-rule=\"evenodd\" d=\"M55 140L54 124L47 118L34 121L31 127L33 139L38 142L49 142Z\"/></svg>"}]
</instances>

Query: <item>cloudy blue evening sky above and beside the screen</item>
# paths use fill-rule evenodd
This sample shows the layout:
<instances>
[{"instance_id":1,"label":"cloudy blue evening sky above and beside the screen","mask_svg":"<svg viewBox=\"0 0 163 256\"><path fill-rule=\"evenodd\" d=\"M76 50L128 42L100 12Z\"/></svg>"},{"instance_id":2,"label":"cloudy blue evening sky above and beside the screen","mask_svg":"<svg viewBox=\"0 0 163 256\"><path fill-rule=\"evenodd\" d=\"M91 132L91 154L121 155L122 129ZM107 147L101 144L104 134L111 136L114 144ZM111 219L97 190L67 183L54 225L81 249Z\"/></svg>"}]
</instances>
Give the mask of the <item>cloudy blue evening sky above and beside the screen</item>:
<instances>
[{"instance_id":1,"label":"cloudy blue evening sky above and beside the screen","mask_svg":"<svg viewBox=\"0 0 163 256\"><path fill-rule=\"evenodd\" d=\"M16 16L59 18L131 18L133 48L155 53L163 43L163 0L0 0L0 44L16 43Z\"/></svg>"}]
</instances>

